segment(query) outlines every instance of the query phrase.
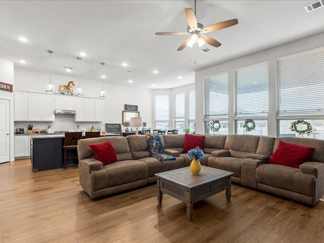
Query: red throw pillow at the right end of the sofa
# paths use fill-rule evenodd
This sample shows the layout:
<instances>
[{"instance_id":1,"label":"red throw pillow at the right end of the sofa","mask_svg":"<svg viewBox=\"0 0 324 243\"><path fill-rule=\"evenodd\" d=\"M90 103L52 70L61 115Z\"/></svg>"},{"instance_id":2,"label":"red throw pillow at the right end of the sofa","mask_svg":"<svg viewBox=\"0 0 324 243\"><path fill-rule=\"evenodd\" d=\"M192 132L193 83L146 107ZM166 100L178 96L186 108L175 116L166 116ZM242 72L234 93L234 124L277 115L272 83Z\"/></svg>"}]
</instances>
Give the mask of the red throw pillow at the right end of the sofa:
<instances>
[{"instance_id":1,"label":"red throw pillow at the right end of the sofa","mask_svg":"<svg viewBox=\"0 0 324 243\"><path fill-rule=\"evenodd\" d=\"M314 153L315 148L279 141L277 149L270 157L269 164L290 166L299 169Z\"/></svg>"}]
</instances>

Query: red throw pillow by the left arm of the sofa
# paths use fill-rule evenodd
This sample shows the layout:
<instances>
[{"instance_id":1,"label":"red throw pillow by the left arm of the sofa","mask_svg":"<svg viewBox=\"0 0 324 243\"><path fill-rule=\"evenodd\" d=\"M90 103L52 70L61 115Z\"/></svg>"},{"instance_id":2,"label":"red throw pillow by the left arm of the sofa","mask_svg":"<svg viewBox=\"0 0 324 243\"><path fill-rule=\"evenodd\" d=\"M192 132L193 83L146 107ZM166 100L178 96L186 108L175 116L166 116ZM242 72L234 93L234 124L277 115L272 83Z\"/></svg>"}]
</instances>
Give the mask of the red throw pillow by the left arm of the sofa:
<instances>
[{"instance_id":1,"label":"red throw pillow by the left arm of the sofa","mask_svg":"<svg viewBox=\"0 0 324 243\"><path fill-rule=\"evenodd\" d=\"M116 152L110 142L89 144L89 147L92 148L96 159L101 161L103 165L117 161Z\"/></svg>"}]
</instances>

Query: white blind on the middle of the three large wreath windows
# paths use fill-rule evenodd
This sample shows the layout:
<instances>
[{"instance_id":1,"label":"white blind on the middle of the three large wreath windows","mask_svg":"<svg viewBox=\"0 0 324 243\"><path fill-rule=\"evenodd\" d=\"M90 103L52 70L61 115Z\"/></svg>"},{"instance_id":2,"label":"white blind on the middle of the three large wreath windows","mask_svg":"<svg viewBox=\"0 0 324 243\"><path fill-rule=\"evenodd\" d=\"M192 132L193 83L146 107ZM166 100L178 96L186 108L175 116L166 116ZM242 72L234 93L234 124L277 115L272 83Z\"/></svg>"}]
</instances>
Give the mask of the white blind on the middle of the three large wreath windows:
<instances>
[{"instance_id":1,"label":"white blind on the middle of the three large wreath windows","mask_svg":"<svg viewBox=\"0 0 324 243\"><path fill-rule=\"evenodd\" d=\"M235 118L268 115L268 62L234 70Z\"/></svg>"}]
</instances>

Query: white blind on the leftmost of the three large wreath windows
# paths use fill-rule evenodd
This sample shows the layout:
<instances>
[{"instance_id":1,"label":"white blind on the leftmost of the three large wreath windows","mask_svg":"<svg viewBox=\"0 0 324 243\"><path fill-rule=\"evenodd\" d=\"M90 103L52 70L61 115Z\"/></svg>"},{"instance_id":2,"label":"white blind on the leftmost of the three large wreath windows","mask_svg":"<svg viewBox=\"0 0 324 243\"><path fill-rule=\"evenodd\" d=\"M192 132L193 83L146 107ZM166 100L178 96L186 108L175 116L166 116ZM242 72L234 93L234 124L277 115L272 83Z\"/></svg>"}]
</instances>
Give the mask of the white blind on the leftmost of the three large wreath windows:
<instances>
[{"instance_id":1,"label":"white blind on the leftmost of the three large wreath windows","mask_svg":"<svg viewBox=\"0 0 324 243\"><path fill-rule=\"evenodd\" d=\"M228 72L205 77L205 119L228 117Z\"/></svg>"}]
</instances>

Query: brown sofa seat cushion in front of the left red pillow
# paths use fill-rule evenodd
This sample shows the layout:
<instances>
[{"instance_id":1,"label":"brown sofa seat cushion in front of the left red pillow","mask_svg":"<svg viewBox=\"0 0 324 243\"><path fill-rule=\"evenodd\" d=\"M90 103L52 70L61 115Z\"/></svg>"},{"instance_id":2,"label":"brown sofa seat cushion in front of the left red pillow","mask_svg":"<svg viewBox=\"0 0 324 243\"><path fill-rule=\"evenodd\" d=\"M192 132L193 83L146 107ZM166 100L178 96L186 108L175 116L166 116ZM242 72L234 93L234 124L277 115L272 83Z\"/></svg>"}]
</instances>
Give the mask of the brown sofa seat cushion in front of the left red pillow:
<instances>
[{"instance_id":1,"label":"brown sofa seat cushion in front of the left red pillow","mask_svg":"<svg viewBox=\"0 0 324 243\"><path fill-rule=\"evenodd\" d=\"M147 178L147 165L139 160L123 160L92 171L93 191Z\"/></svg>"}]
</instances>

